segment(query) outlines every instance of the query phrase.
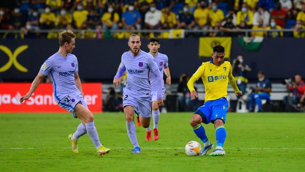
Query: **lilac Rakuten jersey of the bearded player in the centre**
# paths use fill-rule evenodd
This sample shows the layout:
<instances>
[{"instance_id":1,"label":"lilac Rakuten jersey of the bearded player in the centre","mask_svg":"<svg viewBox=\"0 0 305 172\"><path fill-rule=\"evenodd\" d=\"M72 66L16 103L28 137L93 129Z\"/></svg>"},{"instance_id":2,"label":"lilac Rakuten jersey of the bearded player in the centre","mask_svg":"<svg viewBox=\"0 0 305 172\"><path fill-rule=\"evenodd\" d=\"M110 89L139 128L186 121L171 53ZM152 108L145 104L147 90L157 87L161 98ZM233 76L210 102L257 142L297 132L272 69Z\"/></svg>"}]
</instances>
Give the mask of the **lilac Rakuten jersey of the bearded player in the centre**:
<instances>
[{"instance_id":1,"label":"lilac Rakuten jersey of the bearded player in the centre","mask_svg":"<svg viewBox=\"0 0 305 172\"><path fill-rule=\"evenodd\" d=\"M134 93L149 93L150 96L149 73L158 70L153 55L142 50L136 56L133 56L131 51L124 52L120 65L120 68L126 68L126 89Z\"/></svg>"}]
</instances>

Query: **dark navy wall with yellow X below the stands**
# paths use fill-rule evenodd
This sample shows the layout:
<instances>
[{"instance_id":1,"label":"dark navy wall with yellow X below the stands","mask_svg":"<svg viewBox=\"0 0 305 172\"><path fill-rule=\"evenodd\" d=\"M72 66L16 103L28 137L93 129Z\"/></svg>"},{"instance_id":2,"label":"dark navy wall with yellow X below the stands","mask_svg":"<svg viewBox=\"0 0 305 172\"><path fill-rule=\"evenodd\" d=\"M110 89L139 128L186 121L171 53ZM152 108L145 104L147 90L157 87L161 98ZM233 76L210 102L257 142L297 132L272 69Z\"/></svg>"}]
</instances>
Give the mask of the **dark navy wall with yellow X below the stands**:
<instances>
[{"instance_id":1,"label":"dark navy wall with yellow X below the stands","mask_svg":"<svg viewBox=\"0 0 305 172\"><path fill-rule=\"evenodd\" d=\"M112 79L121 54L128 48L127 41L77 39L73 53L78 58L82 79ZM160 52L169 56L172 78L177 79L184 72L193 74L202 62L209 61L209 58L199 58L198 42L198 38L161 40ZM141 49L144 51L148 51L146 44L147 40L142 39ZM19 48L18 54L15 50L22 45L28 47L23 48L24 50ZM250 79L256 78L258 70L265 71L272 79L288 78L295 74L304 74L304 45L305 39L265 38L259 51L254 52L243 49L237 39L232 38L229 61L238 54L243 54L246 64L253 70L249 75ZM0 77L5 81L33 80L43 62L57 49L57 40L0 40ZM27 72L21 72L18 63L25 67Z\"/></svg>"}]
</instances>

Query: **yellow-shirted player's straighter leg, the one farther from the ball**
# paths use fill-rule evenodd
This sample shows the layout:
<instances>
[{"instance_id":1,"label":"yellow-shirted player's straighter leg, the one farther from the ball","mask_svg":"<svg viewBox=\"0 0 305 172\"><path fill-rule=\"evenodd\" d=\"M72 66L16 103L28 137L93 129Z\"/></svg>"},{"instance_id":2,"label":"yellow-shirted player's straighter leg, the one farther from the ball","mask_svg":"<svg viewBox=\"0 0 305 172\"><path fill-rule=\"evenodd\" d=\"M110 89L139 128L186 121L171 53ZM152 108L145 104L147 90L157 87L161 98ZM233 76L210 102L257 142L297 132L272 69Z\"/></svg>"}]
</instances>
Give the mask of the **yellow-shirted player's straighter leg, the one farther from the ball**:
<instances>
[{"instance_id":1,"label":"yellow-shirted player's straighter leg, the one farther from the ball","mask_svg":"<svg viewBox=\"0 0 305 172\"><path fill-rule=\"evenodd\" d=\"M220 98L213 102L212 107L213 109L211 115L211 122L214 122L214 127L216 129L217 145L216 149L212 153L210 153L209 156L225 155L226 153L223 150L223 147L227 132L224 127L224 123L226 121L226 115L228 111L228 101L226 98Z\"/></svg>"}]
</instances>

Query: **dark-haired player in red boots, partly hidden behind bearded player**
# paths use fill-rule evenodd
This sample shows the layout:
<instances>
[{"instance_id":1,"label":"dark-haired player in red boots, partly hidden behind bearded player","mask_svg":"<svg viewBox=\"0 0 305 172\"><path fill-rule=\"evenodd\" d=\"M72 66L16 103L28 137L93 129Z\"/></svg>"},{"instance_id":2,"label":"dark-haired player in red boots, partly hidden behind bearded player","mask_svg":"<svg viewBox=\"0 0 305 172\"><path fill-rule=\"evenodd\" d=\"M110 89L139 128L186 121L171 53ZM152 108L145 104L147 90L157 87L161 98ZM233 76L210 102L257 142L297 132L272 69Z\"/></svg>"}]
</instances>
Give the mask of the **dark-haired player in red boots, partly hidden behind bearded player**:
<instances>
[{"instance_id":1,"label":"dark-haired player in red boots, partly hidden behind bearded player","mask_svg":"<svg viewBox=\"0 0 305 172\"><path fill-rule=\"evenodd\" d=\"M171 77L170 77L170 72L169 72L169 67L168 67L168 58L167 55L162 54L159 52L160 48L160 43L157 38L149 38L148 39L148 45L149 53L154 56L155 62L157 63L157 66L159 67L161 76L163 76L163 73L166 75L166 84L170 85L171 83ZM163 83L163 82L162 82ZM156 90L154 89L157 87L157 78L154 77L154 75L150 76L150 85L151 85L151 90ZM164 96L165 93L165 85L163 83L162 87L162 96ZM153 109L152 109L152 116L154 120L154 140L159 139L159 132L158 132L158 124L159 124L159 119L160 119L160 110L159 110L159 105L157 102L157 92L152 91L151 95L153 98L151 99L151 102L153 102ZM151 130L150 126L146 128L146 140L151 141Z\"/></svg>"}]
</instances>

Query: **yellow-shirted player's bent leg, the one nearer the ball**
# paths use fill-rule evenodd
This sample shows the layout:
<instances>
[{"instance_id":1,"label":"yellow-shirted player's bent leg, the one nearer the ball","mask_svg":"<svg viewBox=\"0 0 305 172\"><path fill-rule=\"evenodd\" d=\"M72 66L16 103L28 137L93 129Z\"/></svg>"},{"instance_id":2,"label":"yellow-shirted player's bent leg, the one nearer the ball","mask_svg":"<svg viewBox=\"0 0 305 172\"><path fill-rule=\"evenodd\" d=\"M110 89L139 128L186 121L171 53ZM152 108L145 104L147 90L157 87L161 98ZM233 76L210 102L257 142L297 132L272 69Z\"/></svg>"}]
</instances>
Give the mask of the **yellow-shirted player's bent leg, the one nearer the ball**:
<instances>
[{"instance_id":1,"label":"yellow-shirted player's bent leg, the one nearer the ball","mask_svg":"<svg viewBox=\"0 0 305 172\"><path fill-rule=\"evenodd\" d=\"M205 105L208 104L205 103ZM203 142L204 148L201 151L200 155L205 155L207 153L208 150L210 150L211 148L213 148L213 144L211 144L205 134L205 130L203 128L203 126L201 125L201 123L205 123L208 124L209 123L209 111L208 108L206 106L200 106L195 114L193 115L193 117L191 118L190 124L193 128L194 133L197 135L197 137L200 138L200 140Z\"/></svg>"}]
</instances>

